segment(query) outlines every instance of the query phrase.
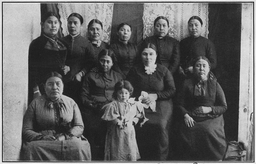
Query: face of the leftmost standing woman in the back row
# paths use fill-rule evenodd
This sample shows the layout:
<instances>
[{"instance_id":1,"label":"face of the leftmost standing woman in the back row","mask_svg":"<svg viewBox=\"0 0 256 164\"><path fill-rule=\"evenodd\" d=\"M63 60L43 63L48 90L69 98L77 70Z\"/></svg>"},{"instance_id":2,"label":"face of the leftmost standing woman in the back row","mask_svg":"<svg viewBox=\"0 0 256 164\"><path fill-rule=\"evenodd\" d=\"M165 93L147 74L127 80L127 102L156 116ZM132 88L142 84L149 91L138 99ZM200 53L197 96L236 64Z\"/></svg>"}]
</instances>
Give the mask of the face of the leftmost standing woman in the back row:
<instances>
[{"instance_id":1,"label":"face of the leftmost standing woman in the back row","mask_svg":"<svg viewBox=\"0 0 256 164\"><path fill-rule=\"evenodd\" d=\"M48 36L54 36L59 31L59 20L55 16L48 17L44 23L41 23L41 26L43 27L44 33Z\"/></svg>"}]
</instances>

